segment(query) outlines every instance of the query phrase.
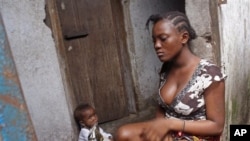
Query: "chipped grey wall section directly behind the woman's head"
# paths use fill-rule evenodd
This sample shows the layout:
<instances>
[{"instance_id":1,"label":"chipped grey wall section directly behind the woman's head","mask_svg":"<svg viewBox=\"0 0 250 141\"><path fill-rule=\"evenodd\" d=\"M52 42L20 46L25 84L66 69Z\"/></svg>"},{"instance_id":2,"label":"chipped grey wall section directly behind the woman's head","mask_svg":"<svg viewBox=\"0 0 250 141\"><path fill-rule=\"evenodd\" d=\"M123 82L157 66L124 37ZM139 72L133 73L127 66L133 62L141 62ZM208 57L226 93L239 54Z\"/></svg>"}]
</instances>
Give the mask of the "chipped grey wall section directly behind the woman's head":
<instances>
[{"instance_id":1,"label":"chipped grey wall section directly behind the woman's head","mask_svg":"<svg viewBox=\"0 0 250 141\"><path fill-rule=\"evenodd\" d=\"M186 14L197 34L197 38L191 43L193 52L202 58L217 63L212 43L214 40L211 39L213 33L209 0L187 0Z\"/></svg>"}]
</instances>

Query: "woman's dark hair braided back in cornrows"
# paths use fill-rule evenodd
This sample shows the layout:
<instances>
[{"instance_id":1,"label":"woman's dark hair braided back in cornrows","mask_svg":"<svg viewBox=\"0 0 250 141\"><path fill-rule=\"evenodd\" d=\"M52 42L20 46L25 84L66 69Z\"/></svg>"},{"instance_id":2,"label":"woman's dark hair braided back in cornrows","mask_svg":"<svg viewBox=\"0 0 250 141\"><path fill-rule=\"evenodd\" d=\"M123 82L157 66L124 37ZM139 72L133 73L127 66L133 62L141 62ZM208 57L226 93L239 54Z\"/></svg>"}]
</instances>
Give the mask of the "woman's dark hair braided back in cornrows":
<instances>
[{"instance_id":1,"label":"woman's dark hair braided back in cornrows","mask_svg":"<svg viewBox=\"0 0 250 141\"><path fill-rule=\"evenodd\" d=\"M155 14L151 15L147 22L146 27L149 28L149 23L152 22L153 24L156 24L158 21L161 20L168 20L170 21L179 32L187 31L189 34L189 40L193 40L197 37L195 30L190 25L190 22L187 18L187 16L179 11L171 11L163 14Z\"/></svg>"}]
</instances>

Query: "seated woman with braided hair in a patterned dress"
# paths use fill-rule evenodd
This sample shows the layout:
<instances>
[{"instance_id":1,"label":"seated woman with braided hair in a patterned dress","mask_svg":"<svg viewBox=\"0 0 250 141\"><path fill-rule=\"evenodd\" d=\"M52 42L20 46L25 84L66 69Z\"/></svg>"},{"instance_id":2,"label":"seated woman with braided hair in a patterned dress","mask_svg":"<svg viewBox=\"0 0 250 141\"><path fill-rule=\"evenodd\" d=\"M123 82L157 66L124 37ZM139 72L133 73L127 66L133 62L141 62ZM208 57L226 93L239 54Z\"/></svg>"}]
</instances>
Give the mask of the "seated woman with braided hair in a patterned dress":
<instances>
[{"instance_id":1,"label":"seated woman with braided hair in a patterned dress","mask_svg":"<svg viewBox=\"0 0 250 141\"><path fill-rule=\"evenodd\" d=\"M121 126L117 141L218 141L225 118L225 75L194 55L196 38L185 14L152 15L152 37L163 62L156 118Z\"/></svg>"}]
</instances>

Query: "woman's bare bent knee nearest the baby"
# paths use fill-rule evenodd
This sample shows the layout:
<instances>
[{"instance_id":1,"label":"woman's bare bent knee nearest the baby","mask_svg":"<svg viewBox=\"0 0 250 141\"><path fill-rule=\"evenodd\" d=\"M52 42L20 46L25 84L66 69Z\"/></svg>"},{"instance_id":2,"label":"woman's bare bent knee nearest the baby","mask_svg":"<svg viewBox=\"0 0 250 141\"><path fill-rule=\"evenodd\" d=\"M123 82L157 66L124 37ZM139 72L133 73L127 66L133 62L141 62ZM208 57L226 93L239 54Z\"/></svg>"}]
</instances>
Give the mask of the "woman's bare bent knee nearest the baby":
<instances>
[{"instance_id":1,"label":"woman's bare bent knee nearest the baby","mask_svg":"<svg viewBox=\"0 0 250 141\"><path fill-rule=\"evenodd\" d=\"M142 141L141 133L147 122L126 124L118 128L115 141Z\"/></svg>"}]
</instances>

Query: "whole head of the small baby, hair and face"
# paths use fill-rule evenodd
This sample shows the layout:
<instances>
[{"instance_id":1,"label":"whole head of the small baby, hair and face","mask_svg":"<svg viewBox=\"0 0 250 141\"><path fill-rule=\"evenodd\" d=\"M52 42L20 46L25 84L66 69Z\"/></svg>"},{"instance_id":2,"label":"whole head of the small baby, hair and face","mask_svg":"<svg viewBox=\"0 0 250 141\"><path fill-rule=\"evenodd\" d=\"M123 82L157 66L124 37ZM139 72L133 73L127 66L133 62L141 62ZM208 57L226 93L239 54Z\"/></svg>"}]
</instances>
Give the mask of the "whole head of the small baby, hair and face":
<instances>
[{"instance_id":1,"label":"whole head of the small baby, hair and face","mask_svg":"<svg viewBox=\"0 0 250 141\"><path fill-rule=\"evenodd\" d=\"M91 128L98 123L95 109L89 104L80 104L74 111L74 118L81 127Z\"/></svg>"}]
</instances>

